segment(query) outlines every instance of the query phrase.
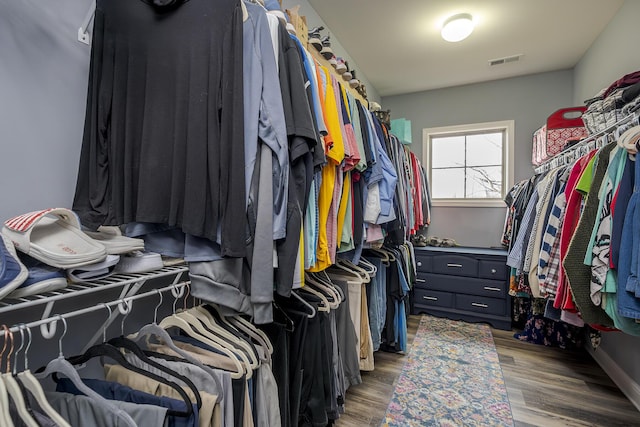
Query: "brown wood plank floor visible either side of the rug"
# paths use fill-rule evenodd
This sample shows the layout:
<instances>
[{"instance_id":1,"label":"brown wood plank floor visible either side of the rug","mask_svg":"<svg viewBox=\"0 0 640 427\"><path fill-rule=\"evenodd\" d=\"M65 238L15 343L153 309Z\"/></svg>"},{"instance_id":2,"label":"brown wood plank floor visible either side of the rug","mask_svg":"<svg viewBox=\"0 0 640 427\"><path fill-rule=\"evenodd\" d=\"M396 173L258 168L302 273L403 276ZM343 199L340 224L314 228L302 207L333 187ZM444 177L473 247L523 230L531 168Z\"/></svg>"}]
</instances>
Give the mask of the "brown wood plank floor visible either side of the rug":
<instances>
[{"instance_id":1,"label":"brown wood plank floor visible either side of the rug","mask_svg":"<svg viewBox=\"0 0 640 427\"><path fill-rule=\"evenodd\" d=\"M407 321L408 342L420 316ZM524 343L513 332L492 329L516 427L640 426L640 412L586 351ZM410 347L409 347L410 348ZM406 356L375 353L375 371L346 396L338 427L379 426Z\"/></svg>"}]
</instances>

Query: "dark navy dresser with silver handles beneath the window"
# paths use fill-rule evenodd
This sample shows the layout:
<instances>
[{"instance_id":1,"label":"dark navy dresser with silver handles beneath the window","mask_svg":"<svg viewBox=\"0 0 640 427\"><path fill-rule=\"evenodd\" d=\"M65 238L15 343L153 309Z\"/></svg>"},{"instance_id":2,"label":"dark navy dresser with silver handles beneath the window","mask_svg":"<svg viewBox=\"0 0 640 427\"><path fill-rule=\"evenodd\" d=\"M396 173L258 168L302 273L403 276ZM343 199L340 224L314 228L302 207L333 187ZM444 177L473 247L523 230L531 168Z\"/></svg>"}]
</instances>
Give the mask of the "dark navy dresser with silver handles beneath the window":
<instances>
[{"instance_id":1,"label":"dark navy dresser with silver handles beneath the window","mask_svg":"<svg viewBox=\"0 0 640 427\"><path fill-rule=\"evenodd\" d=\"M413 314L428 313L511 329L507 251L416 247Z\"/></svg>"}]
</instances>

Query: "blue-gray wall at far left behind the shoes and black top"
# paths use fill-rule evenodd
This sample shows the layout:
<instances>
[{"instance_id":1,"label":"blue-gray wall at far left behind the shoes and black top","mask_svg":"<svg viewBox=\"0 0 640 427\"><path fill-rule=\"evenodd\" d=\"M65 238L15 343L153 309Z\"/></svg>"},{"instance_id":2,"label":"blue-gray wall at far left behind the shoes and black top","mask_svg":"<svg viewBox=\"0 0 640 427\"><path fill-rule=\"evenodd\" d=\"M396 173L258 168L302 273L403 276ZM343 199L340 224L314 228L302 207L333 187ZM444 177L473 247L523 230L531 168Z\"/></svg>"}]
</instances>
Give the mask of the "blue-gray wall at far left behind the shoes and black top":
<instances>
[{"instance_id":1,"label":"blue-gray wall at far left behind the shoes and black top","mask_svg":"<svg viewBox=\"0 0 640 427\"><path fill-rule=\"evenodd\" d=\"M70 207L84 122L90 0L0 0L0 220Z\"/></svg>"}]
</instances>

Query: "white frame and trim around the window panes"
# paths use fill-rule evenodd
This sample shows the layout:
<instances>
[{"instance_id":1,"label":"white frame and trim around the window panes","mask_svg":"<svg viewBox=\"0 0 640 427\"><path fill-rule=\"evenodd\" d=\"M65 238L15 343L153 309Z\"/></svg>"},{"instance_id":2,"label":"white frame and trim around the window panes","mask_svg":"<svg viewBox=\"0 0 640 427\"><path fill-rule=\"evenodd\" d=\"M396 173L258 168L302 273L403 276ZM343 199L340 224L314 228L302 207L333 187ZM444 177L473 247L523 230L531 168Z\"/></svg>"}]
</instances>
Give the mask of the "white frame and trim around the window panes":
<instances>
[{"instance_id":1,"label":"white frame and trim around the window panes","mask_svg":"<svg viewBox=\"0 0 640 427\"><path fill-rule=\"evenodd\" d=\"M501 207L505 206L504 196L513 187L513 165L514 165L514 140L515 122L514 120L503 120L497 122L472 123L456 126L441 126L435 128L425 128L422 130L422 162L426 166L429 185L432 185L431 174L431 139L433 137L443 137L454 134L504 131L505 144L502 147L502 194L500 199L434 199L433 206L453 206L453 207Z\"/></svg>"}]
</instances>

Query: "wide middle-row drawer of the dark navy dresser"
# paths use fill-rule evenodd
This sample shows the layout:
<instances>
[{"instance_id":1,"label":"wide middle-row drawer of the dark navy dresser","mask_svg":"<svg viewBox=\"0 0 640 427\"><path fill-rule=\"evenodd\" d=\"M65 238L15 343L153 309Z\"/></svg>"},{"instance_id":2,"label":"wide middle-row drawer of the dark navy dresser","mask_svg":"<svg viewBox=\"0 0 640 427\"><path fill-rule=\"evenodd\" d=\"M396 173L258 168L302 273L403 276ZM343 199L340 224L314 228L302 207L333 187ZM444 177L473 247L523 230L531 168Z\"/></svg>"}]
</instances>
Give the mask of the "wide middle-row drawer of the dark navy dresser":
<instances>
[{"instance_id":1,"label":"wide middle-row drawer of the dark navy dresser","mask_svg":"<svg viewBox=\"0 0 640 427\"><path fill-rule=\"evenodd\" d=\"M416 288L458 294L504 298L507 296L506 280L476 279L474 277L445 276L433 273L418 273Z\"/></svg>"}]
</instances>

